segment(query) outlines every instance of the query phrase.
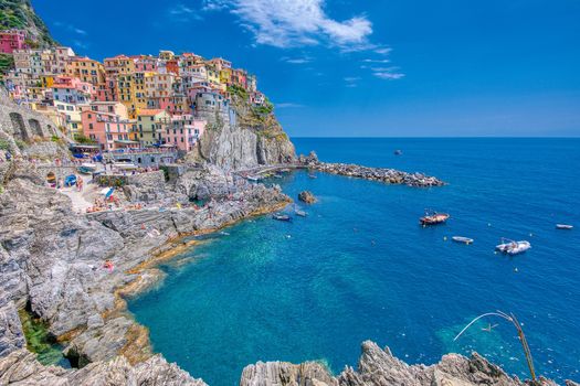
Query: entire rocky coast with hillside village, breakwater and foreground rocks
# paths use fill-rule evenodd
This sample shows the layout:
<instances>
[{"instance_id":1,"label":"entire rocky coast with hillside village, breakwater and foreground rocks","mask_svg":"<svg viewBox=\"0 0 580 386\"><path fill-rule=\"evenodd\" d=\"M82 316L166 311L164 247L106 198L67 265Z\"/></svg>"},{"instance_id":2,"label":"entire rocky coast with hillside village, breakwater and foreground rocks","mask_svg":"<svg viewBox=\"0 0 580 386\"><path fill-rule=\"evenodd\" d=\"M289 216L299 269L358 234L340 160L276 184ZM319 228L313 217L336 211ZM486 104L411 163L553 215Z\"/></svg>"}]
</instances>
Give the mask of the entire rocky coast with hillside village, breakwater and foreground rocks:
<instances>
[{"instance_id":1,"label":"entire rocky coast with hillside village, breakwater and foreground rocks","mask_svg":"<svg viewBox=\"0 0 580 386\"><path fill-rule=\"evenodd\" d=\"M125 298L161 280L156 265L197 243L189 236L292 202L275 185L249 182L250 174L308 168L443 185L296 157L255 77L225 60L161 51L99 63L46 39L39 44L54 68L23 72L39 51L22 46L0 92L0 385L203 385L151 352ZM91 75L82 71L87 65L96 68ZM41 77L51 86L32 89ZM137 96L135 87L145 92ZM41 345L56 347L73 368L33 352L39 344L23 315L43 329ZM359 368L338 376L318 363L281 362L241 374L241 385L278 384L523 383L477 354L409 366L365 342Z\"/></svg>"}]
</instances>

